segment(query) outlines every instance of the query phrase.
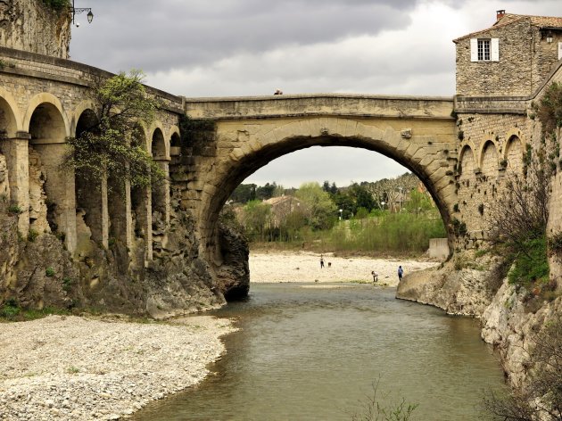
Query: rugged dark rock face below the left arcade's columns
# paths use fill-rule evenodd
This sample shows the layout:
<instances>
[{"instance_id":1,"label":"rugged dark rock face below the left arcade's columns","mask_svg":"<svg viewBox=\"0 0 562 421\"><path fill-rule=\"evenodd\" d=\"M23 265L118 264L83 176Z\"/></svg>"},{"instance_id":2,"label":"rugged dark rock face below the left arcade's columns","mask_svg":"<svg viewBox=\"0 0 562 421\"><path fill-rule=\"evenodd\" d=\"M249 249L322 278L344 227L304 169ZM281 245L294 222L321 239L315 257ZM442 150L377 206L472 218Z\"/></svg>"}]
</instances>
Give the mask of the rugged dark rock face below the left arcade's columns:
<instances>
[{"instance_id":1,"label":"rugged dark rock face below the left arcade's columns","mask_svg":"<svg viewBox=\"0 0 562 421\"><path fill-rule=\"evenodd\" d=\"M25 308L77 307L164 318L218 308L226 303L225 294L248 290L244 238L223 233L221 242L233 246L233 259L219 268L227 280L217 282L198 256L194 221L183 213L171 219L161 256L148 262L143 244L128 251L119 243L105 250L91 242L87 255L71 256L51 233L21 238L17 219L17 210L1 200L0 303L10 299Z\"/></svg>"}]
</instances>

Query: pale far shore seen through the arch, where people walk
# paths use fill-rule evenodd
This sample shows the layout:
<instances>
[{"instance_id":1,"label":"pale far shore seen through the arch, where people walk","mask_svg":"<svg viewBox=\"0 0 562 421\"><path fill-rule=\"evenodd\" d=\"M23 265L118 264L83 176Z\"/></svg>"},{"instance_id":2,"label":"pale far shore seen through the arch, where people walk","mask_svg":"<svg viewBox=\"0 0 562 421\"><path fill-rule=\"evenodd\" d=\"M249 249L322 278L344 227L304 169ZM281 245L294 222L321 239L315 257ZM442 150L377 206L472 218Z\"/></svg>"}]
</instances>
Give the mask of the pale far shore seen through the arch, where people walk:
<instances>
[{"instance_id":1,"label":"pale far shore seen through the arch, where people walk","mask_svg":"<svg viewBox=\"0 0 562 421\"><path fill-rule=\"evenodd\" d=\"M399 265L404 275L431 268L435 261L371 259L368 257L335 257L323 255L325 266L320 268L320 254L312 252L251 252L251 282L372 282L371 271L378 273L378 282L398 285ZM328 263L331 263L328 265Z\"/></svg>"}]
</instances>

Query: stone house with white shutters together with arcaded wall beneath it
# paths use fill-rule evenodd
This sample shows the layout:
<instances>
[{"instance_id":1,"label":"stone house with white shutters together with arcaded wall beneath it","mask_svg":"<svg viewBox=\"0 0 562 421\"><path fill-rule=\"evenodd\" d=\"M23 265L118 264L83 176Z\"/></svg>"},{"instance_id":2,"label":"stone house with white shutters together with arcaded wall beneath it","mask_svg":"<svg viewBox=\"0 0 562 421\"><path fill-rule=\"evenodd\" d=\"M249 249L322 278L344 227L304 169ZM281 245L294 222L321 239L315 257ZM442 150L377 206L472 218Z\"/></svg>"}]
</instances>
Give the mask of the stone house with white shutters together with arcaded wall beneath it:
<instances>
[{"instance_id":1,"label":"stone house with white shutters together with arcaded wall beneath it","mask_svg":"<svg viewBox=\"0 0 562 421\"><path fill-rule=\"evenodd\" d=\"M560 78L562 18L497 12L489 29L459 37L457 47L458 202L454 219L467 248L486 237L491 207L508 177L521 174L527 148L540 147L533 103Z\"/></svg>"}]
</instances>

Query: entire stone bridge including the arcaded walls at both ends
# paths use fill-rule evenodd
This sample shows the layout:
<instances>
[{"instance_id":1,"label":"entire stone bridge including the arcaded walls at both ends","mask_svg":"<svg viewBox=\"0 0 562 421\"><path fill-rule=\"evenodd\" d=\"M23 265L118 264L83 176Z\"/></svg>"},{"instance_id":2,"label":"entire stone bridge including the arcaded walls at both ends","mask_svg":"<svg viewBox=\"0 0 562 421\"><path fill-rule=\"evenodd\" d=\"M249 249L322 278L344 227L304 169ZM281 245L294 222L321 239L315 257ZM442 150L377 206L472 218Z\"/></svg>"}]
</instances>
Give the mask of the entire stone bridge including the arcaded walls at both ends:
<instances>
[{"instance_id":1,"label":"entire stone bridge including the arcaded walls at both ends","mask_svg":"<svg viewBox=\"0 0 562 421\"><path fill-rule=\"evenodd\" d=\"M145 267L158 265L169 256L202 257L211 264L211 276L234 279L238 275L228 267L244 259L227 256L229 245L221 244L223 204L269 161L313 145L359 147L398 161L432 194L451 250L470 248L484 239L484 209L500 196L501 178L521 172L525 144L536 131L526 117L532 98L186 98L148 87L163 106L152 125L142 127L145 148L169 177L116 193L112 180L87 186L61 169L66 137L79 136L96 119L92 88L112 74L4 47L0 54L0 175L3 165L7 173L0 179L0 197L18 211L23 238L58 235L79 261L87 260L92 244L107 250L119 243L129 260L136 256L136 267L142 261ZM182 144L179 120L185 115L195 126L206 123ZM178 224L194 236L190 252L181 257Z\"/></svg>"}]
</instances>

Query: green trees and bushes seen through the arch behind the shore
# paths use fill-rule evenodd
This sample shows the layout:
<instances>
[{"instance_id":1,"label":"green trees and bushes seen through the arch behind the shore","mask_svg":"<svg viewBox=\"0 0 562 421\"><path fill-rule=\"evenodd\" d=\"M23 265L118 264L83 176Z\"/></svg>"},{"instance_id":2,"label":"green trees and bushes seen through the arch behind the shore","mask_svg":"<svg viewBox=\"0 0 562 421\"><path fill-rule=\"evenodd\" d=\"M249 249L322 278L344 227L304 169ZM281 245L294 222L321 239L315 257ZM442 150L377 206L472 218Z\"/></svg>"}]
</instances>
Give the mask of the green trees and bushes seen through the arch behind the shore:
<instances>
[{"instance_id":1,"label":"green trees and bushes seen through the arch behind the shore","mask_svg":"<svg viewBox=\"0 0 562 421\"><path fill-rule=\"evenodd\" d=\"M446 236L431 196L409 173L345 187L240 185L223 220L252 242L333 251L424 252L430 238Z\"/></svg>"}]
</instances>

